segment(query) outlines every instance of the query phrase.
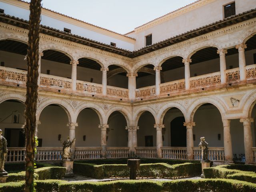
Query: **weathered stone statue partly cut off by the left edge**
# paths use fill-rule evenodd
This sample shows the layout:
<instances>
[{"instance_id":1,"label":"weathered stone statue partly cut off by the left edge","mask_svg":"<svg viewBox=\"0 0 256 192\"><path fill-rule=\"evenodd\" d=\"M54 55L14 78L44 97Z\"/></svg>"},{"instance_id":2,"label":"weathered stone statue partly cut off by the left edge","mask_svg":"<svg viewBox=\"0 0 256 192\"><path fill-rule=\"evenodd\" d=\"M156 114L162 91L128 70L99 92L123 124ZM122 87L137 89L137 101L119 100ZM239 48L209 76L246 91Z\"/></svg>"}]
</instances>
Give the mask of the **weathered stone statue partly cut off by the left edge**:
<instances>
[{"instance_id":1,"label":"weathered stone statue partly cut off by the left edge","mask_svg":"<svg viewBox=\"0 0 256 192\"><path fill-rule=\"evenodd\" d=\"M4 161L7 155L7 141L2 136L2 130L0 129L0 176L7 175L8 173L4 170Z\"/></svg>"}]
</instances>

